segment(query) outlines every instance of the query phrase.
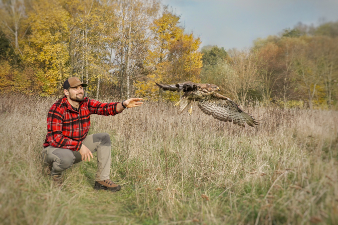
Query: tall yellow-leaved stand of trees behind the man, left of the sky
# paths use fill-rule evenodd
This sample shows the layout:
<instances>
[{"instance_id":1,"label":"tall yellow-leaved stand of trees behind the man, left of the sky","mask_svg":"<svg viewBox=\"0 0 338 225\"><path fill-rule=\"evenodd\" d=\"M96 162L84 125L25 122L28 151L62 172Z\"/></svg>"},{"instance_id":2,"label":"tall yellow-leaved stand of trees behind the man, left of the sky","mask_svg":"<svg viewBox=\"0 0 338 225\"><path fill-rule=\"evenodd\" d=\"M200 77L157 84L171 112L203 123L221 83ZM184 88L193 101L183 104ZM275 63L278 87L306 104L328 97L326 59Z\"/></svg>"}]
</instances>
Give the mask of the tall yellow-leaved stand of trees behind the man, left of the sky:
<instances>
[{"instance_id":1,"label":"tall yellow-leaved stand of trees behind the man, left of the sky","mask_svg":"<svg viewBox=\"0 0 338 225\"><path fill-rule=\"evenodd\" d=\"M198 80L201 42L158 0L0 2L1 93L60 94L78 76L87 96L155 98L153 81Z\"/></svg>"}]
</instances>

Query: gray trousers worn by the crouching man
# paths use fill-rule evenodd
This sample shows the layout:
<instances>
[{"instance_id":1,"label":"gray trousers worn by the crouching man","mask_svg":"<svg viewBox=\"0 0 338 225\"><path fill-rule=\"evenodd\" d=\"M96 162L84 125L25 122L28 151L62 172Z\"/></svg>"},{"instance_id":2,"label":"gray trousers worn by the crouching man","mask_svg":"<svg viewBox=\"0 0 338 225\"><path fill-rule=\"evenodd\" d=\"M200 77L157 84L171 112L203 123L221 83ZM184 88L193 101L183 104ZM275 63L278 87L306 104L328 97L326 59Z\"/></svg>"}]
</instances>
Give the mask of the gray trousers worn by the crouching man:
<instances>
[{"instance_id":1,"label":"gray trousers worn by the crouching man","mask_svg":"<svg viewBox=\"0 0 338 225\"><path fill-rule=\"evenodd\" d=\"M92 153L97 151L96 181L109 179L110 173L110 137L107 133L99 133L87 136L83 145ZM51 175L61 175L65 169L73 164L81 162L79 151L59 149L48 146L43 149L44 163L50 165Z\"/></svg>"}]
</instances>

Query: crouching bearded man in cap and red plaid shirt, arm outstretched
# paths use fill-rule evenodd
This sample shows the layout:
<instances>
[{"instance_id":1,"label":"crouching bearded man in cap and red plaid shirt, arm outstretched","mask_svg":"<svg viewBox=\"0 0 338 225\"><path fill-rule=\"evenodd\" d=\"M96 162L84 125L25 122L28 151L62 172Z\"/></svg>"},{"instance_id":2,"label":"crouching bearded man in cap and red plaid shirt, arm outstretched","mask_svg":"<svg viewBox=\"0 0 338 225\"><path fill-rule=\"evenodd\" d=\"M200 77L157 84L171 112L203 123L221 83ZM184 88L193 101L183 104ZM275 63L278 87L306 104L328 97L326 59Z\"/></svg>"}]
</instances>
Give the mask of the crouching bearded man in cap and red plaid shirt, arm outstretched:
<instances>
[{"instance_id":1,"label":"crouching bearded man in cap and red plaid shirt, arm outstretched","mask_svg":"<svg viewBox=\"0 0 338 225\"><path fill-rule=\"evenodd\" d=\"M142 98L130 98L123 102L101 103L84 97L87 84L77 77L64 82L65 96L56 101L47 117L47 135L44 146L44 162L51 167L54 181L61 182L65 169L73 164L90 161L97 151L97 172L94 189L119 191L120 185L109 179L110 137L107 133L87 136L90 114L113 116L126 108L141 106Z\"/></svg>"}]
</instances>

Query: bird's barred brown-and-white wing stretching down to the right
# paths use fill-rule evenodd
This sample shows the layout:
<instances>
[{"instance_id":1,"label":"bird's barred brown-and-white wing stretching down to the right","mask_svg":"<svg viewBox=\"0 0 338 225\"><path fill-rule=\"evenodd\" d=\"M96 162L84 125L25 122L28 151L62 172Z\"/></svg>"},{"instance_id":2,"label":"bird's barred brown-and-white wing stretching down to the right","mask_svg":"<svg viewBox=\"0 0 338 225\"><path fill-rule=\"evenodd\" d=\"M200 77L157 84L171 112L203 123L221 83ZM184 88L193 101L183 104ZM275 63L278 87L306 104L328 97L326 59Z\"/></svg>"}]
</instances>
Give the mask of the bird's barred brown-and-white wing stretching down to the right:
<instances>
[{"instance_id":1,"label":"bird's barred brown-and-white wing stretching down to the right","mask_svg":"<svg viewBox=\"0 0 338 225\"><path fill-rule=\"evenodd\" d=\"M220 95L210 94L203 100L198 101L198 107L208 115L212 115L215 119L221 121L229 121L239 126L245 127L245 123L249 126L259 125L259 123L252 118L232 100Z\"/></svg>"}]
</instances>

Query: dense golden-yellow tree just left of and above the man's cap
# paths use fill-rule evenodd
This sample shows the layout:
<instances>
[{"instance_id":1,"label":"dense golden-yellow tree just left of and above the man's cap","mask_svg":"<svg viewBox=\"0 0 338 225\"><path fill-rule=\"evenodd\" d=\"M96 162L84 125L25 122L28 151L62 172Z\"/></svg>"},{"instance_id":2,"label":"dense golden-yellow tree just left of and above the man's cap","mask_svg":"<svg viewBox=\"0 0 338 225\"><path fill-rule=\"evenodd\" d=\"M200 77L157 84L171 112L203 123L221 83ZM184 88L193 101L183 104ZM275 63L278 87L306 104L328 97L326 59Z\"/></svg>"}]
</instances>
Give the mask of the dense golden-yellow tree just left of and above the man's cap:
<instances>
[{"instance_id":1,"label":"dense golden-yellow tree just left of and above the man's cap","mask_svg":"<svg viewBox=\"0 0 338 225\"><path fill-rule=\"evenodd\" d=\"M57 1L37 0L28 16L31 23L23 61L39 76L42 93L51 95L61 89L69 74L69 15Z\"/></svg>"}]
</instances>

